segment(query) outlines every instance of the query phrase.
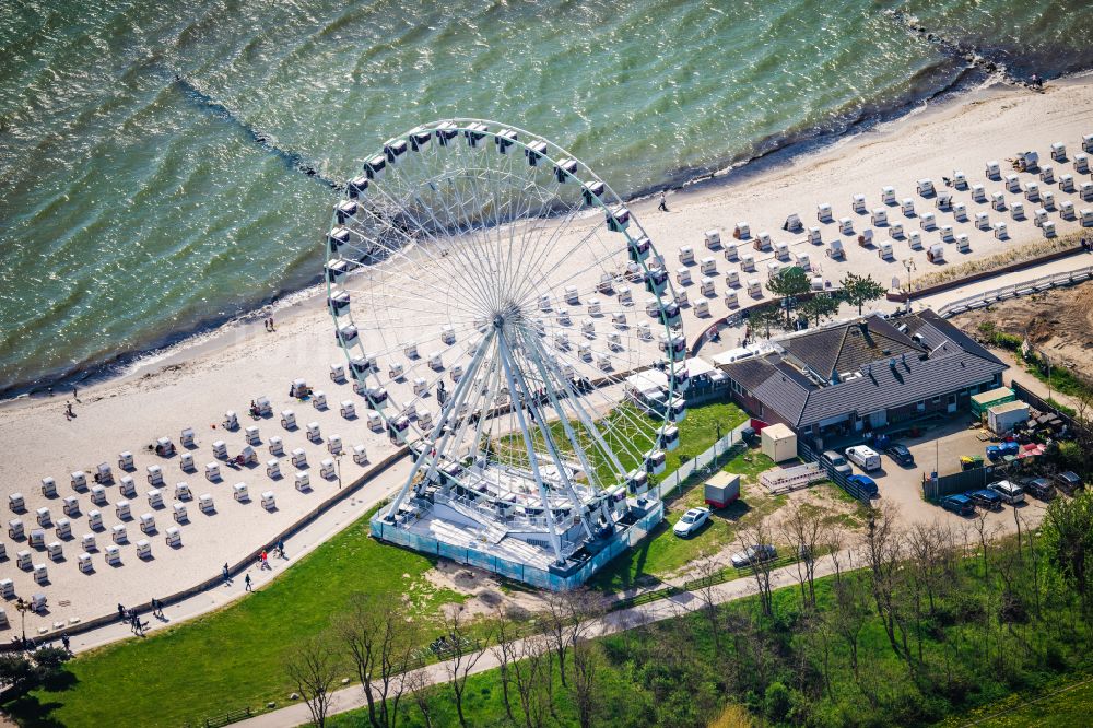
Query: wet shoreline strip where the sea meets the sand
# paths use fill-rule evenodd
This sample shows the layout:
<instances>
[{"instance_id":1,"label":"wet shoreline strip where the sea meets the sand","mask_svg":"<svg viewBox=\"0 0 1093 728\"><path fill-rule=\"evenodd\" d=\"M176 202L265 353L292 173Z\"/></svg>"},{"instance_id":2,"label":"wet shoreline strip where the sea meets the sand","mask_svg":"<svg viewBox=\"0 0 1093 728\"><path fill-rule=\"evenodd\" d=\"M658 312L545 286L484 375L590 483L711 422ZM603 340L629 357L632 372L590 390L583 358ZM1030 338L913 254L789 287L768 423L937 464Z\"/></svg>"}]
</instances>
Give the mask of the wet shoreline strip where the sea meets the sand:
<instances>
[{"instance_id":1,"label":"wet shoreline strip where the sea meets the sand","mask_svg":"<svg viewBox=\"0 0 1093 728\"><path fill-rule=\"evenodd\" d=\"M1054 85L1083 83L1093 74L1093 69L1078 71L1054 79ZM787 141L767 138L756 142L756 152L739 158L718 163L714 172L678 169L665 174L667 181L640 188L623 198L627 204L638 204L654 199L660 191L672 195L695 191L717 192L731 189L751 179L771 174L778 167L808 163L834 153L847 145L867 138L870 133L884 133L900 125L910 122L925 115L943 114L953 108L963 108L997 94L1037 93L1022 86L1007 83L997 77L984 78L973 68L964 69L960 75L942 89L928 94L905 99L886 109L870 109L855 119L841 120L845 126L837 130L810 129ZM767 145L768 149L763 149ZM610 180L606 180L610 185ZM55 390L54 399L63 397L63 390L73 386L91 391L103 385L120 384L155 366L177 364L191 357L215 350L218 340L236 333L250 336L257 331L260 317L273 315L274 320L292 317L302 304L321 293L321 275L316 274L298 287L282 287L272 296L246 310L238 310L213 318L196 321L193 325L167 332L150 345L115 354L101 363L75 366L55 378L48 375L33 381L14 383L0 389L0 409L17 406L27 400L49 400L49 388ZM226 342L221 342L226 345Z\"/></svg>"}]
</instances>

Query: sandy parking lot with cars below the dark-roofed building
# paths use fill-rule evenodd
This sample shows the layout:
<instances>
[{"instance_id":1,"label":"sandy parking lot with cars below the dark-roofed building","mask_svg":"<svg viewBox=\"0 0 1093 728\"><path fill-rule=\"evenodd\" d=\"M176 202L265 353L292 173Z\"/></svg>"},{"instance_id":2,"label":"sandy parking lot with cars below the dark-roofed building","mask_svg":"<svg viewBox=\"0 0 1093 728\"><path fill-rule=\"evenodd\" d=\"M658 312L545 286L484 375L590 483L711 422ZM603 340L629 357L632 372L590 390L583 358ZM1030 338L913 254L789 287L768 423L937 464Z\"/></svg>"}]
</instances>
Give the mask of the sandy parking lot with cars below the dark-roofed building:
<instances>
[{"instance_id":1,"label":"sandy parking lot with cars below the dark-roofed building","mask_svg":"<svg viewBox=\"0 0 1093 728\"><path fill-rule=\"evenodd\" d=\"M896 504L908 524L928 524L935 520L954 524L969 521L969 518L950 513L922 500L922 478L930 477L935 469L941 475L960 472L961 456L985 457L987 445L992 443L989 439L980 439L985 435L984 431L968 428L971 421L971 415L962 412L949 420L924 427L917 437L894 438L894 443L900 443L910 450L915 459L914 465L903 467L881 453L881 468L865 473L877 481L881 500ZM853 467L855 472L863 472L857 466ZM1046 503L1029 497L1023 505L1018 506L1018 509L1025 519L1038 522L1046 506ZM1012 507L1007 505L1001 510L988 513L988 522L1008 531L1015 530Z\"/></svg>"}]
</instances>

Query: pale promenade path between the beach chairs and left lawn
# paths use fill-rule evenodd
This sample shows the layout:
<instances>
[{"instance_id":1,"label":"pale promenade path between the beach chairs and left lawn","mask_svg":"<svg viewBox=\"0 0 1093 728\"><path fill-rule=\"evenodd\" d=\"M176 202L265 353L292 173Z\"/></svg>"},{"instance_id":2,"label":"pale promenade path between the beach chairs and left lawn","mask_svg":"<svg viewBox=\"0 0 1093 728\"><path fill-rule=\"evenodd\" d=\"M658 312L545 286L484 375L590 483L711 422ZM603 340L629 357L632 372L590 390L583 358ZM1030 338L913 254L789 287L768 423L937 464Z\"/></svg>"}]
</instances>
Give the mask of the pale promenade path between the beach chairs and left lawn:
<instances>
[{"instance_id":1,"label":"pale promenade path between the beach chairs and left lawn","mask_svg":"<svg viewBox=\"0 0 1093 728\"><path fill-rule=\"evenodd\" d=\"M287 566L291 566L295 562L299 561L299 559L305 554L310 553L320 544L333 538L346 526L361 518L368 512L369 508L387 497L393 489L398 488L408 477L409 472L410 460L408 458L403 458L399 462L391 466L387 471L380 473L374 480L366 483L356 493L345 498L340 504L319 516L309 526L287 539L284 543L284 550L289 556L287 560L283 561L279 557L270 556L269 563L272 566L271 571L260 571L257 564L247 570L246 574L250 575L252 588L261 588L263 585L280 576ZM195 576L196 578L203 579L212 574L219 573L220 564L209 564L209 572L210 573ZM243 597L245 594L245 575L239 574L234 579L216 589L202 591L193 597L190 597L189 599L184 599L178 603L167 607L164 609L164 615L166 618L164 620L157 619L148 613L142 614L142 619L149 623L145 634L155 632L156 630L163 630L184 620L192 619L207 612L221 609L222 607L226 607L231 602ZM14 624L17 626L17 622L14 622ZM132 637L132 631L128 625L119 622L117 624L111 624L110 626L74 635L72 637L72 650L81 653L111 642L130 637Z\"/></svg>"}]
</instances>

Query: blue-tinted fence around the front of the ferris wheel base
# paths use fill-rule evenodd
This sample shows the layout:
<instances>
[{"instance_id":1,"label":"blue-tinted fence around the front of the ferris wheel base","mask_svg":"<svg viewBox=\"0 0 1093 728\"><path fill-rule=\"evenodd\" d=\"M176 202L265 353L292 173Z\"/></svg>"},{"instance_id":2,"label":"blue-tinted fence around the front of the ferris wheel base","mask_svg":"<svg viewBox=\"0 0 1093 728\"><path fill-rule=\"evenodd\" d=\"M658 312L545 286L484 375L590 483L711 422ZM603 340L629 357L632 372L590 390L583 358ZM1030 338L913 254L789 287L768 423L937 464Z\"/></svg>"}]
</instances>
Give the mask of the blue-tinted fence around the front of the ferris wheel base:
<instances>
[{"instance_id":1,"label":"blue-tinted fence around the front of the ferris wheel base","mask_svg":"<svg viewBox=\"0 0 1093 728\"><path fill-rule=\"evenodd\" d=\"M580 586L591 577L592 574L602 568L609 561L618 556L626 549L635 545L644 539L650 530L665 518L665 505L659 501L651 504L651 509L633 526L625 531L615 535L614 539L603 550L596 553L591 559L580 565L579 568L566 576L552 574L545 570L528 564L501 559L492 554L479 551L471 547L455 545L438 541L430 536L412 533L403 528L386 522L380 516L383 512L376 514L372 519L372 535L388 543L413 549L422 553L431 553L444 559L449 559L458 564L477 566L494 574L500 574L516 582L530 584L531 586L551 591L565 591Z\"/></svg>"}]
</instances>

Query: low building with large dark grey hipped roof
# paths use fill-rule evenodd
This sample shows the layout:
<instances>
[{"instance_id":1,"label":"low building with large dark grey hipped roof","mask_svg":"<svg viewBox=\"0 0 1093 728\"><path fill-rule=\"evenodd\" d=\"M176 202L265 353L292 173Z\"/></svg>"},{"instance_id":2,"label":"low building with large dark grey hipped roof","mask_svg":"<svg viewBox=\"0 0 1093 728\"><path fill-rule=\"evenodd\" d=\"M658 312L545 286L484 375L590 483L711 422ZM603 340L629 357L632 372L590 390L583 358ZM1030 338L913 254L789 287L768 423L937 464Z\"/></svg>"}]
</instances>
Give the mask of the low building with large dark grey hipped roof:
<instances>
[{"instance_id":1,"label":"low building with large dark grey hipped roof","mask_svg":"<svg viewBox=\"0 0 1093 728\"><path fill-rule=\"evenodd\" d=\"M818 438L967 409L1006 368L932 310L789 334L721 366L733 399L754 416Z\"/></svg>"}]
</instances>

